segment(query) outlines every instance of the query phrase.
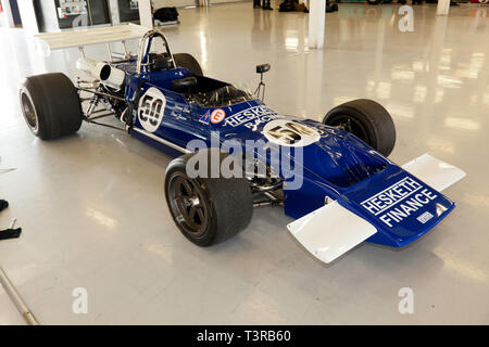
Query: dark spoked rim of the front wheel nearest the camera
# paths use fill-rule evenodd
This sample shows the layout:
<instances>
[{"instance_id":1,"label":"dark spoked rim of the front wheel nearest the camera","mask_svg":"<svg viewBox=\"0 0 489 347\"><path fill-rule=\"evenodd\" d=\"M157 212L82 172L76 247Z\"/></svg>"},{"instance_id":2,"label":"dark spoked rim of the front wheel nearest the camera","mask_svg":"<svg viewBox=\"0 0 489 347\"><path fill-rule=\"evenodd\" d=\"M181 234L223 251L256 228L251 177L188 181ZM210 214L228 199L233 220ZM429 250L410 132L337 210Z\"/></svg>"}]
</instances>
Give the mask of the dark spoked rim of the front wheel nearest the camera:
<instances>
[{"instance_id":1,"label":"dark spoked rim of the front wheel nearest the camera","mask_svg":"<svg viewBox=\"0 0 489 347\"><path fill-rule=\"evenodd\" d=\"M209 206L197 181L181 172L172 176L168 197L176 223L193 237L205 233Z\"/></svg>"}]
</instances>

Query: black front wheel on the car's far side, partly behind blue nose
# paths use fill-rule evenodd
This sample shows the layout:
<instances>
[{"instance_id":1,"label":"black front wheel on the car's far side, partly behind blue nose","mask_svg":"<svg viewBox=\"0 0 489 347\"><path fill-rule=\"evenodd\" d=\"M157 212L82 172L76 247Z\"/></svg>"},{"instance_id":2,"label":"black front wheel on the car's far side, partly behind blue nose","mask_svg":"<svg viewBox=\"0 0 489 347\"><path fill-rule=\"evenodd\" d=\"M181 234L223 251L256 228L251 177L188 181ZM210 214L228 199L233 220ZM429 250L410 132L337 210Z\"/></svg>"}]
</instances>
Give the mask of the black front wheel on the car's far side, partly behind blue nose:
<instances>
[{"instance_id":1,"label":"black front wheel on the car's far side, partly behind blue nose","mask_svg":"<svg viewBox=\"0 0 489 347\"><path fill-rule=\"evenodd\" d=\"M336 106L323 123L353 133L384 156L388 156L396 144L392 117L373 100L358 99Z\"/></svg>"}]
</instances>

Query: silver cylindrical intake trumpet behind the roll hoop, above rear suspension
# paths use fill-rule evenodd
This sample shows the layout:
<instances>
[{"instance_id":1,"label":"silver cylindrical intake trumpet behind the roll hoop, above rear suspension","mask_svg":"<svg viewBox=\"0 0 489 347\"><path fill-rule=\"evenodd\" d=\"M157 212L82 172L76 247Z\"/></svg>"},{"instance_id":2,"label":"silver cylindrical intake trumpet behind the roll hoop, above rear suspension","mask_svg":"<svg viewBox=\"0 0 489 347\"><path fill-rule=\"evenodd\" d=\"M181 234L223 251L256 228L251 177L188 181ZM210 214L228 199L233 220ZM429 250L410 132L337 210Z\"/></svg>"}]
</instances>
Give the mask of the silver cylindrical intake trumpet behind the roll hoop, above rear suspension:
<instances>
[{"instance_id":1,"label":"silver cylindrical intake trumpet behind the roll hoop, above rear suspension","mask_svg":"<svg viewBox=\"0 0 489 347\"><path fill-rule=\"evenodd\" d=\"M102 85L116 90L121 90L126 82L126 73L105 62L97 62L89 57L82 57L76 62L76 67L98 79Z\"/></svg>"}]
</instances>

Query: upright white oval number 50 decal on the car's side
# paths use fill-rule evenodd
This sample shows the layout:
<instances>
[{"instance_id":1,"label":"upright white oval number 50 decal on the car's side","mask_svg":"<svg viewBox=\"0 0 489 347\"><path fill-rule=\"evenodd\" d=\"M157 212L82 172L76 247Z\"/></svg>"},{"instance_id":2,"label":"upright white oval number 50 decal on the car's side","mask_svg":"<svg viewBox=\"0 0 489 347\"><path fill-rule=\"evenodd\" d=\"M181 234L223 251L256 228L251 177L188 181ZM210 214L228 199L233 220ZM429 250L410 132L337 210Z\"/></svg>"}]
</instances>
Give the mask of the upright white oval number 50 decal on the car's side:
<instances>
[{"instance_id":1,"label":"upright white oval number 50 decal on the car's side","mask_svg":"<svg viewBox=\"0 0 489 347\"><path fill-rule=\"evenodd\" d=\"M138 119L146 131L156 131L163 119L165 106L165 95L154 87L149 88L139 99Z\"/></svg>"}]
</instances>

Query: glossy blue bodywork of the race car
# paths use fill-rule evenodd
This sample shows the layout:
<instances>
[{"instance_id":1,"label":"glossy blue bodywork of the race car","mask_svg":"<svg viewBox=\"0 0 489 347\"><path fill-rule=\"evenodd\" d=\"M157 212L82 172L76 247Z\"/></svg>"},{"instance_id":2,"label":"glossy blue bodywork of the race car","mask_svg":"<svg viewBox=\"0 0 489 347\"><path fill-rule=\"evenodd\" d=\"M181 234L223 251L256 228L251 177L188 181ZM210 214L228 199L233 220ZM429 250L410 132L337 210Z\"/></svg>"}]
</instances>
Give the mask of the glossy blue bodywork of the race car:
<instances>
[{"instance_id":1,"label":"glossy blue bodywork of the race car","mask_svg":"<svg viewBox=\"0 0 489 347\"><path fill-rule=\"evenodd\" d=\"M327 196L337 200L341 206L363 217L377 229L377 233L367 242L402 247L432 229L454 208L454 203L440 192L343 130L310 119L286 117L258 99L221 107L189 103L172 88L173 80L191 76L186 68L143 72L138 75L135 72L135 61L117 67L126 70L127 101L134 98L141 79L146 82L142 83L140 95L150 88L156 88L163 93L166 99L163 117L152 134L184 149L195 139L203 140L211 146L213 131L218 131L221 141L234 139L243 143L244 140L263 140L275 145L263 134L264 126L273 119L290 119L315 129L321 137L302 147L303 159L298 164L303 166L303 183L300 189L289 190L287 182L292 179L293 172L276 167L286 182L285 213L292 218L300 218L324 206ZM209 117L215 110L222 110L225 117L214 124ZM138 117L134 127L142 129ZM141 132L131 131L131 134L173 156L181 154ZM242 150L246 151L244 144ZM293 159L294 152L290 153ZM261 159L274 166L268 158Z\"/></svg>"}]
</instances>

